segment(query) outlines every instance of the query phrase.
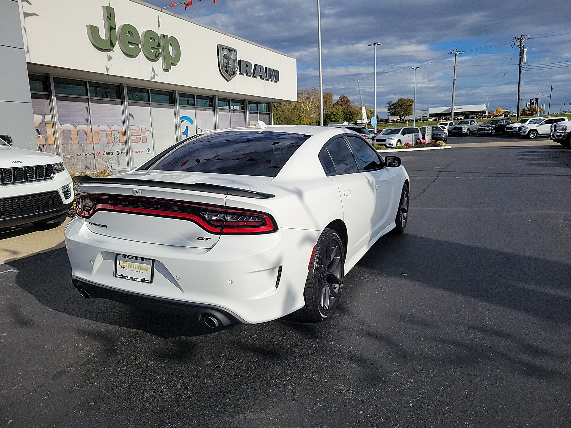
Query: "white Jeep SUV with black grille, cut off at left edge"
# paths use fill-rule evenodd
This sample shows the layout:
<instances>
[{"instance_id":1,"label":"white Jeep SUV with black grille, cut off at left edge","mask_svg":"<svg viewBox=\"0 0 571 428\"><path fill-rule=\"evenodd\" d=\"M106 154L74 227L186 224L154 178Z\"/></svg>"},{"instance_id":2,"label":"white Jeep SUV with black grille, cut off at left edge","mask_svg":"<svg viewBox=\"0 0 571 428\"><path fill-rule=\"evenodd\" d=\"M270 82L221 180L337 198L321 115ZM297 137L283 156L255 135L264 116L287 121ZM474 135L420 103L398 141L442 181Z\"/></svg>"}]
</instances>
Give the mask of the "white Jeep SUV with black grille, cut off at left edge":
<instances>
[{"instance_id":1,"label":"white Jeep SUV with black grille, cut off at left edge","mask_svg":"<svg viewBox=\"0 0 571 428\"><path fill-rule=\"evenodd\" d=\"M0 228L58 227L73 204L71 177L59 156L11 147L0 136Z\"/></svg>"}]
</instances>

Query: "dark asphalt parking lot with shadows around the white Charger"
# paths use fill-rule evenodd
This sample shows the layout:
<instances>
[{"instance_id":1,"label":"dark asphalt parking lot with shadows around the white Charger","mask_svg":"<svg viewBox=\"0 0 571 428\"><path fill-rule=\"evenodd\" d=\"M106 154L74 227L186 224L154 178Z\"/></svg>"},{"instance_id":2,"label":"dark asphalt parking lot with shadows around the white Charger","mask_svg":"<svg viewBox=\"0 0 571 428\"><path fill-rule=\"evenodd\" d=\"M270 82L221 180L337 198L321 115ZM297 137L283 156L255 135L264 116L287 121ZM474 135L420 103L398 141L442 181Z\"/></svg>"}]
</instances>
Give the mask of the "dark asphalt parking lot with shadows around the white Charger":
<instances>
[{"instance_id":1,"label":"dark asphalt parking lot with shadows around the white Charger","mask_svg":"<svg viewBox=\"0 0 571 428\"><path fill-rule=\"evenodd\" d=\"M398 155L407 231L325 324L85 300L65 248L0 265L0 425L570 426L571 150Z\"/></svg>"}]
</instances>

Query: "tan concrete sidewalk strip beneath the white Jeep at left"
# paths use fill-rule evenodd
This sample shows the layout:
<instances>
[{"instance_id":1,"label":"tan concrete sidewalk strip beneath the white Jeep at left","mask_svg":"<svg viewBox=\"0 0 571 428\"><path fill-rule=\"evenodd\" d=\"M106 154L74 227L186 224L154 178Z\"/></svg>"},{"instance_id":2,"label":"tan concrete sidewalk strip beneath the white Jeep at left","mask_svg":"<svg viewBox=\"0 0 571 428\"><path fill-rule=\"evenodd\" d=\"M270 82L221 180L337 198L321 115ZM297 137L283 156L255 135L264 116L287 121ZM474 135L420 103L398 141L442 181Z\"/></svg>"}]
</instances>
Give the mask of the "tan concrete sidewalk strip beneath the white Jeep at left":
<instances>
[{"instance_id":1,"label":"tan concrete sidewalk strip beneath the white Jeep at left","mask_svg":"<svg viewBox=\"0 0 571 428\"><path fill-rule=\"evenodd\" d=\"M63 231L71 219L55 229L39 231L31 224L0 229L0 264L65 247Z\"/></svg>"}]
</instances>

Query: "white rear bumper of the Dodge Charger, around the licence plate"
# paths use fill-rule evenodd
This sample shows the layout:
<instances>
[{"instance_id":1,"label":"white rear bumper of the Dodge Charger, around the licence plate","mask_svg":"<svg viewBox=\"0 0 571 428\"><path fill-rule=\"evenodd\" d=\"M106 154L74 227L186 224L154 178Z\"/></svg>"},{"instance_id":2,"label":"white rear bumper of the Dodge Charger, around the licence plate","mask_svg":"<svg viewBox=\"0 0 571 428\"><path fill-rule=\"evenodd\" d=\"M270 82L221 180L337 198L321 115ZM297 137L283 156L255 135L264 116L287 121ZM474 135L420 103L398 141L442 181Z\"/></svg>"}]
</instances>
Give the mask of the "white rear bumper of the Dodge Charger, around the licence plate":
<instances>
[{"instance_id":1,"label":"white rear bumper of the Dodge Charger, around the licence plate","mask_svg":"<svg viewBox=\"0 0 571 428\"><path fill-rule=\"evenodd\" d=\"M74 283L102 288L94 289L98 296L127 304L152 303L167 312L215 308L249 324L275 320L305 304L307 265L319 235L287 228L267 235L223 235L206 249L99 235L81 217L65 232ZM115 253L154 259L153 282L116 278Z\"/></svg>"}]
</instances>

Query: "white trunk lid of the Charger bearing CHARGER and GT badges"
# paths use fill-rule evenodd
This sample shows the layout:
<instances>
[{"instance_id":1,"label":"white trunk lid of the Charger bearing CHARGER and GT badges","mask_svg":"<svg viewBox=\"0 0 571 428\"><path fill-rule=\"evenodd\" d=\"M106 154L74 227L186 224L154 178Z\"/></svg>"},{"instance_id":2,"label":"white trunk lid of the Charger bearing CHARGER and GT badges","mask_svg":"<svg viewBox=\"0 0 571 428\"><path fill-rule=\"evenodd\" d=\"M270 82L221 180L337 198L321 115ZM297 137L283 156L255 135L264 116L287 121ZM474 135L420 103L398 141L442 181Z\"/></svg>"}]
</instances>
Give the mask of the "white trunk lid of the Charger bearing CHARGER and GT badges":
<instances>
[{"instance_id":1,"label":"white trunk lid of the Charger bearing CHARGER and GT badges","mask_svg":"<svg viewBox=\"0 0 571 428\"><path fill-rule=\"evenodd\" d=\"M86 219L90 231L130 241L193 248L212 248L220 239L216 225L207 220L223 212L226 206L227 194L216 193L216 186L247 191L272 180L272 177L168 171L134 171L109 178L132 181L83 183L76 187L77 193L100 197L96 203L100 209ZM145 182L139 185L137 180ZM157 181L160 187L148 181ZM213 191L169 188L168 183L173 183L173 187L202 183L213 185Z\"/></svg>"}]
</instances>

